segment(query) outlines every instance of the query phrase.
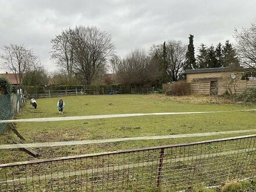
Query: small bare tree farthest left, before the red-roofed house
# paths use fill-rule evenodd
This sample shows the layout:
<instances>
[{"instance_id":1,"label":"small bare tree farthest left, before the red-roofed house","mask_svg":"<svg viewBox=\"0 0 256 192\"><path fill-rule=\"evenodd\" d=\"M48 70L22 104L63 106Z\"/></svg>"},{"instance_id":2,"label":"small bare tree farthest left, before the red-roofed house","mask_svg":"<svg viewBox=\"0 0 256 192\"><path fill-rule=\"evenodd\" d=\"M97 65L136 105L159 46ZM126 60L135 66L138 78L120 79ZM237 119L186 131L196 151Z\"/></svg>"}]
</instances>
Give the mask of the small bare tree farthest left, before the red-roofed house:
<instances>
[{"instance_id":1,"label":"small bare tree farthest left, before the red-roofed house","mask_svg":"<svg viewBox=\"0 0 256 192\"><path fill-rule=\"evenodd\" d=\"M16 44L3 46L1 58L5 67L15 74L17 84L22 82L26 70L32 67L38 59L33 55L31 49ZM18 77L20 81L18 81Z\"/></svg>"}]
</instances>

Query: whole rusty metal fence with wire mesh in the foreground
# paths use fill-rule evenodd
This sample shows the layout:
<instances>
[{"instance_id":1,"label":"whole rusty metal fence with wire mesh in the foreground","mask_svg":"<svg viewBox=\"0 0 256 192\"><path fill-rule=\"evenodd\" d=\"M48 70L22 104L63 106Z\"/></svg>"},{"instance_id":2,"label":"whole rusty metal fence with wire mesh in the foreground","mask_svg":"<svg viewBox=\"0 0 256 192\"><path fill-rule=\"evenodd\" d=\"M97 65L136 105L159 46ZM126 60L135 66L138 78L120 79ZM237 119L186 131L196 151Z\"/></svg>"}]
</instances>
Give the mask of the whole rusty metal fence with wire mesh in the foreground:
<instances>
[{"instance_id":1,"label":"whole rusty metal fence with wire mesh in the foreground","mask_svg":"<svg viewBox=\"0 0 256 192\"><path fill-rule=\"evenodd\" d=\"M255 138L79 155L0 165L0 191L186 190L256 176Z\"/></svg>"}]
</instances>

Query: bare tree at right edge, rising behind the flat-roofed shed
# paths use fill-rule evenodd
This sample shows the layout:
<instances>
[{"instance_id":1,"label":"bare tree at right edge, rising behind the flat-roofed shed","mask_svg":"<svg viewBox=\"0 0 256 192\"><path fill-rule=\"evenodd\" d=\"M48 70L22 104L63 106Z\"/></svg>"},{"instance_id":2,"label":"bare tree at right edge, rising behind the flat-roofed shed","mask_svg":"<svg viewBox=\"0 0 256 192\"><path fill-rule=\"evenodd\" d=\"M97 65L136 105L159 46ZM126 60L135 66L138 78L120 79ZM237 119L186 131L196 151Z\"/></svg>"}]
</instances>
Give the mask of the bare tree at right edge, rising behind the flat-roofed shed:
<instances>
[{"instance_id":1,"label":"bare tree at right edge, rising behind the flat-roofed shed","mask_svg":"<svg viewBox=\"0 0 256 192\"><path fill-rule=\"evenodd\" d=\"M251 27L243 28L241 32L234 30L234 38L237 41L237 51L239 52L243 65L251 68L256 67L256 21L251 23Z\"/></svg>"}]
</instances>

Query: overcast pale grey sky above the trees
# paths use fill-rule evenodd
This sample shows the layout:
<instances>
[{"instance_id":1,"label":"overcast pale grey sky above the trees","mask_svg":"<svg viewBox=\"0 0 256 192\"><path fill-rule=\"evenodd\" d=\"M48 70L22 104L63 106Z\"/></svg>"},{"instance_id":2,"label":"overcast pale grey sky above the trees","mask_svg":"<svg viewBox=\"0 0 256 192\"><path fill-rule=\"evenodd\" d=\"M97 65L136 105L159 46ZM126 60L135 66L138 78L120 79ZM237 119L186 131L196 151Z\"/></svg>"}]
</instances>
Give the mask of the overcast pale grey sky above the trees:
<instances>
[{"instance_id":1,"label":"overcast pale grey sky above the trees","mask_svg":"<svg viewBox=\"0 0 256 192\"><path fill-rule=\"evenodd\" d=\"M234 28L249 27L256 20L255 0L0 0L0 46L23 44L40 56L53 71L51 39L62 30L79 25L108 31L116 52L162 44L166 40L189 42L195 50L225 40L233 44ZM0 72L4 72L2 64Z\"/></svg>"}]
</instances>

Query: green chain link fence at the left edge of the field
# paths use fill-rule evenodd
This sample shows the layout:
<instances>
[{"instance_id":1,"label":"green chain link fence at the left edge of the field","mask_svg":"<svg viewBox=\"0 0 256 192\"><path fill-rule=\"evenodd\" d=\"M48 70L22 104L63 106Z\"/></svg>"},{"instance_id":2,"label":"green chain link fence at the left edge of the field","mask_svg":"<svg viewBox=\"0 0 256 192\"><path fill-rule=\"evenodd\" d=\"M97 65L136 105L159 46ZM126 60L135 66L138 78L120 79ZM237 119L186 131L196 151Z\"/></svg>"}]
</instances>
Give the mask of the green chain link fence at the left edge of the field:
<instances>
[{"instance_id":1,"label":"green chain link fence at the left edge of the field","mask_svg":"<svg viewBox=\"0 0 256 192\"><path fill-rule=\"evenodd\" d=\"M9 120L13 118L13 115L19 111L20 104L20 94L8 94L0 95L0 120ZM0 134L6 123L0 123Z\"/></svg>"}]
</instances>

